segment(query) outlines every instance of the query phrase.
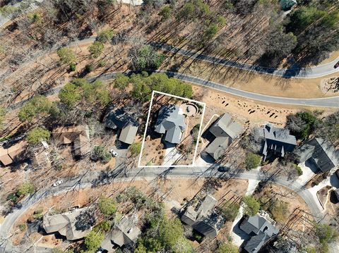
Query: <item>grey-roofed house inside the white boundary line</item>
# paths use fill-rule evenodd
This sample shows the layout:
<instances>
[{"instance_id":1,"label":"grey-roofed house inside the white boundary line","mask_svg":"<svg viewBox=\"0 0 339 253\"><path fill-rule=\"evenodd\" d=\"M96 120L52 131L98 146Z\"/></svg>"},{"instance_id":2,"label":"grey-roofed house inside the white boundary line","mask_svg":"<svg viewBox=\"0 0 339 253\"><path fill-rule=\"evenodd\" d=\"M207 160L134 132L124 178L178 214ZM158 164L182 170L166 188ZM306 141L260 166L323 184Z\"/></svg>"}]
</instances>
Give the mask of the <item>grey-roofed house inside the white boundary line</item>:
<instances>
[{"instance_id":1,"label":"grey-roofed house inside the white boundary line","mask_svg":"<svg viewBox=\"0 0 339 253\"><path fill-rule=\"evenodd\" d=\"M179 106L169 104L162 106L155 124L155 132L165 133L165 141L173 144L180 143L182 131L186 129L185 116L180 112Z\"/></svg>"}]
</instances>

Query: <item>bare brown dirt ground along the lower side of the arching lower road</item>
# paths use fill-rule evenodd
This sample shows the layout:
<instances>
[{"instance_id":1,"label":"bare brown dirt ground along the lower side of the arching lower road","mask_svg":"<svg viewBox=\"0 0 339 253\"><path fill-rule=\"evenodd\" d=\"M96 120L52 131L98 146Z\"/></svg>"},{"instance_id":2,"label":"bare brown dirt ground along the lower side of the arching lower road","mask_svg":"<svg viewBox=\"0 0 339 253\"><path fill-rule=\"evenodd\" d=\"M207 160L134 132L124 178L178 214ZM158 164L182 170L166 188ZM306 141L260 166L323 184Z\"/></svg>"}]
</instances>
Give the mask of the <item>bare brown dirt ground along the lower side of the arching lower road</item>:
<instances>
[{"instance_id":1,"label":"bare brown dirt ground along the lower side of the arching lower road","mask_svg":"<svg viewBox=\"0 0 339 253\"><path fill-rule=\"evenodd\" d=\"M72 206L85 206L89 202L95 202L95 199L100 197L103 193L112 197L117 195L117 193L122 192L126 187L135 186L146 195L157 198L158 200L161 199L165 202L165 211L167 214L172 214L171 209L173 206L177 206L177 204L181 206L187 200L193 198L201 191L201 189L212 194L213 197L218 200L218 204L221 204L223 201L230 199L233 195L242 197L246 192L247 185L247 180L240 179L215 180L208 178L168 178L167 180L117 181L100 187L70 190L62 195L47 197L28 209L28 211L20 216L16 223L14 223L12 233L15 233L15 235L11 238L15 245L20 243L25 231L20 232L19 225L26 223L37 209L42 209L42 214L45 214L51 208L66 211ZM232 190L232 192L230 190ZM232 224L226 223L218 237L227 237L230 225ZM62 242L54 235L42 236L41 234L35 234L34 237L36 240L33 240L33 242L39 240L38 245L56 247Z\"/></svg>"}]
</instances>

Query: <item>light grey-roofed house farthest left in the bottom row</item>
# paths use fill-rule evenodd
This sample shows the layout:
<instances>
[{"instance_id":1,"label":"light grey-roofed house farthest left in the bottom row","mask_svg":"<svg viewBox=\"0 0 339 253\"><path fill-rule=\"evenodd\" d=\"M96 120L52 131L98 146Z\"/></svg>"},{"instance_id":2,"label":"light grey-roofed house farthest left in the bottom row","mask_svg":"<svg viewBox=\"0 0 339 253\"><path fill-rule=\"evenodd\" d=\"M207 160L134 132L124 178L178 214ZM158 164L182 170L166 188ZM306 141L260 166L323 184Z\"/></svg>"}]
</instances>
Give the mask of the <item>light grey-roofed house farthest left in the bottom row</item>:
<instances>
[{"instance_id":1,"label":"light grey-roofed house farthest left in the bottom row","mask_svg":"<svg viewBox=\"0 0 339 253\"><path fill-rule=\"evenodd\" d=\"M87 230L78 230L76 228L76 218L82 214L83 211L87 211L88 207L82 209L75 209L63 214L44 215L42 226L46 233L56 233L66 237L67 240L78 240L90 233L92 228Z\"/></svg>"}]
</instances>

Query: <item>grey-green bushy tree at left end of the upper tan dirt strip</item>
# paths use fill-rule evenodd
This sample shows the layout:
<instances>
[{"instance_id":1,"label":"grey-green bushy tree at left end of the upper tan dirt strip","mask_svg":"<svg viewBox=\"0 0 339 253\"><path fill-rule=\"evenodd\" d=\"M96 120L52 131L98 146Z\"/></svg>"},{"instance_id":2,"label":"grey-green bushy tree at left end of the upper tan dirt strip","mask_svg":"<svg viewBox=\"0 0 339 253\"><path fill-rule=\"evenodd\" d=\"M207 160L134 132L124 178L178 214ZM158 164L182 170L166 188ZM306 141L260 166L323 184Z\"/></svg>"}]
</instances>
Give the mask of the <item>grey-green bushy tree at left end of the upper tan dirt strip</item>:
<instances>
[{"instance_id":1,"label":"grey-green bushy tree at left end of the upper tan dirt strip","mask_svg":"<svg viewBox=\"0 0 339 253\"><path fill-rule=\"evenodd\" d=\"M157 53L157 51L150 45L143 45L136 51L131 49L130 56L132 60L132 68L134 70L157 69L165 60L165 56Z\"/></svg>"}]
</instances>

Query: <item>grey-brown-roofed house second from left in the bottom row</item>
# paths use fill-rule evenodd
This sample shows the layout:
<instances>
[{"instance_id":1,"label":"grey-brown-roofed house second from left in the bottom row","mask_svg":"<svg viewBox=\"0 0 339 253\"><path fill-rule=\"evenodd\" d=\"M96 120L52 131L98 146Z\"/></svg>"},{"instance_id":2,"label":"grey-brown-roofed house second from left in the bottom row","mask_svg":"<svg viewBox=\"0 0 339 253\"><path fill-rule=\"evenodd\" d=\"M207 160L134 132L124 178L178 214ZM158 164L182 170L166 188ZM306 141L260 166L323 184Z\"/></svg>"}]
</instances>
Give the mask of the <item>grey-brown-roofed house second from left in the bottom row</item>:
<instances>
[{"instance_id":1,"label":"grey-brown-roofed house second from left in the bottom row","mask_svg":"<svg viewBox=\"0 0 339 253\"><path fill-rule=\"evenodd\" d=\"M136 226L138 217L133 215L131 217L124 216L119 223L114 226L113 230L107 235L102 242L102 249L112 252L114 245L129 246L136 242L141 230Z\"/></svg>"}]
</instances>

